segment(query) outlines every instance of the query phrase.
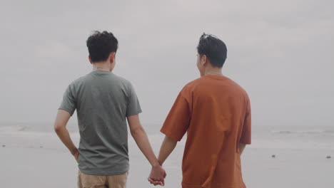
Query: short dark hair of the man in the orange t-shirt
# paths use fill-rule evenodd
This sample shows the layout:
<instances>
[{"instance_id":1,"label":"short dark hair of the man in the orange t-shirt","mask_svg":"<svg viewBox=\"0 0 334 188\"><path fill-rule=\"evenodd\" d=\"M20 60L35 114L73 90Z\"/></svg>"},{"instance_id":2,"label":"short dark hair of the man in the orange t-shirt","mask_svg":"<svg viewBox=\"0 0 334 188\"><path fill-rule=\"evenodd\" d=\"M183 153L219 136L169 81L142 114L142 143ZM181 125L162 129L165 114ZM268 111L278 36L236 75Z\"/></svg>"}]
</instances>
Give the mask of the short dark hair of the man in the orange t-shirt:
<instances>
[{"instance_id":1,"label":"short dark hair of the man in the orange t-shirt","mask_svg":"<svg viewBox=\"0 0 334 188\"><path fill-rule=\"evenodd\" d=\"M227 48L221 39L203 33L197 46L197 52L202 57L206 55L211 65L221 68L226 61Z\"/></svg>"}]
</instances>

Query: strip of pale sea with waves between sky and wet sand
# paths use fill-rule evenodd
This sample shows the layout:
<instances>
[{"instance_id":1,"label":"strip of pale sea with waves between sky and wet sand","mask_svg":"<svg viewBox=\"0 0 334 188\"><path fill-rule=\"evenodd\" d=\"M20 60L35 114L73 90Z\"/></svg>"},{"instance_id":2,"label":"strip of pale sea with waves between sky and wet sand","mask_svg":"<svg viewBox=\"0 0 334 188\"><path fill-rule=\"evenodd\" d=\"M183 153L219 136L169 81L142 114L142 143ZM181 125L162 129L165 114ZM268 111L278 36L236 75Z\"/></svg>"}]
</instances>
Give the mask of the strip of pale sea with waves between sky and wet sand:
<instances>
[{"instance_id":1,"label":"strip of pale sea with waves between sky and wet sand","mask_svg":"<svg viewBox=\"0 0 334 188\"><path fill-rule=\"evenodd\" d=\"M161 125L143 124L144 129L151 135L151 140L157 142L161 140L163 135L159 132ZM67 125L71 135L75 138L79 137L79 129L76 123ZM13 139L9 140L11 135ZM55 135L52 123L20 123L7 122L0 124L0 144L1 145L29 145L29 140L34 140L34 137L49 137ZM6 137L7 139L1 139ZM14 137L20 139L15 140ZM24 139L26 137L26 140ZM184 140L184 139L183 139ZM24 143L20 143L23 142ZM43 140L41 140L42 143ZM33 143L31 143L33 144ZM29 146L34 147L34 146ZM40 147L40 146L36 146ZM52 149L52 146L49 146ZM256 126L252 127L252 145L251 148L258 149L296 149L296 150L334 150L334 125L323 126Z\"/></svg>"}]
</instances>

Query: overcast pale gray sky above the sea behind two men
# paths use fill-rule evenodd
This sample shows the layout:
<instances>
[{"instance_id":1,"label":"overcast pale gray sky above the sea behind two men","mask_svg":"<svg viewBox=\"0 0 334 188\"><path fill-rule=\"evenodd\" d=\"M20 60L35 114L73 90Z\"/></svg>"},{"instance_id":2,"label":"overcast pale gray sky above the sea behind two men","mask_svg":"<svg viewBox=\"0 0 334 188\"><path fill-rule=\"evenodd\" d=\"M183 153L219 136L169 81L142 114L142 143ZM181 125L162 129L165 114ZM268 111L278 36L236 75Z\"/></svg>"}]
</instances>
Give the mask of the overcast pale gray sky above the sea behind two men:
<instances>
[{"instance_id":1,"label":"overcast pale gray sky above the sea behind two men","mask_svg":"<svg viewBox=\"0 0 334 188\"><path fill-rule=\"evenodd\" d=\"M86 38L108 30L143 122L162 123L198 78L206 32L226 42L223 73L248 91L253 125L333 125L333 1L143 2L1 1L0 122L53 122L67 85L91 71Z\"/></svg>"}]
</instances>

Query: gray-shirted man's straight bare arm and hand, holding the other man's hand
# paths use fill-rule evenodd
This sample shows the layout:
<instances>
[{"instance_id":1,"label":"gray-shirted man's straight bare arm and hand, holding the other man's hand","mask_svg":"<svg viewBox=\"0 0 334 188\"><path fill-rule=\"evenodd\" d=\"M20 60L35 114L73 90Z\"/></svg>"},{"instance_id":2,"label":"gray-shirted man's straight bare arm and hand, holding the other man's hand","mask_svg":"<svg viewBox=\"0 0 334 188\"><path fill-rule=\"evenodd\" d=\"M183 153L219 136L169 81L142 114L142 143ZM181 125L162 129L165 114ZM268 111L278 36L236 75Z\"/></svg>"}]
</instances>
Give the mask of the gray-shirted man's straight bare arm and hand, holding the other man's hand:
<instances>
[{"instance_id":1,"label":"gray-shirted man's straight bare arm and hand, holding the other man's hand","mask_svg":"<svg viewBox=\"0 0 334 188\"><path fill-rule=\"evenodd\" d=\"M148 162L150 162L153 167L150 177L157 181L161 181L161 185L163 183L163 178L166 176L165 170L161 167L156 159L156 155L152 150L151 144L148 140L145 130L141 126L141 122L139 120L139 115L131 115L128 117L128 125L130 126L131 135L133 139L136 141L139 149L143 152Z\"/></svg>"}]
</instances>

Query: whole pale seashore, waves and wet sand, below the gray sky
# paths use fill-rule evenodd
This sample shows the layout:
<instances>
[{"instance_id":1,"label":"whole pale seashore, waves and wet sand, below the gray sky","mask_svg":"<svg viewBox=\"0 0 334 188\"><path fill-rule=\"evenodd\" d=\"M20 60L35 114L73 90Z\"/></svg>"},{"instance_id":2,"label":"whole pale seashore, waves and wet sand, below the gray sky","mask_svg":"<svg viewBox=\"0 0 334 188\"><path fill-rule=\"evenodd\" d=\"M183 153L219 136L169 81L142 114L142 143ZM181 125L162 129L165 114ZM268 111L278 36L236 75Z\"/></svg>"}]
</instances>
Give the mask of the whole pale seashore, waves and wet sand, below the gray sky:
<instances>
[{"instance_id":1,"label":"whole pale seashore, waves and wet sand, below the gray sky","mask_svg":"<svg viewBox=\"0 0 334 188\"><path fill-rule=\"evenodd\" d=\"M158 128L146 127L151 130L148 135L156 154L163 140ZM69 130L79 143L76 125ZM178 142L163 165L168 174L166 187L181 187L185 140ZM146 180L150 166L132 137L128 145L128 187L153 187ZM76 161L51 125L1 125L0 156L1 187L76 187ZM242 168L244 182L251 188L334 187L334 128L254 127L252 145L242 155Z\"/></svg>"}]
</instances>

